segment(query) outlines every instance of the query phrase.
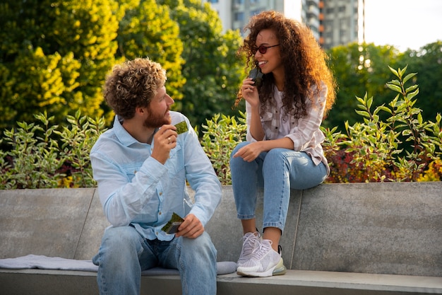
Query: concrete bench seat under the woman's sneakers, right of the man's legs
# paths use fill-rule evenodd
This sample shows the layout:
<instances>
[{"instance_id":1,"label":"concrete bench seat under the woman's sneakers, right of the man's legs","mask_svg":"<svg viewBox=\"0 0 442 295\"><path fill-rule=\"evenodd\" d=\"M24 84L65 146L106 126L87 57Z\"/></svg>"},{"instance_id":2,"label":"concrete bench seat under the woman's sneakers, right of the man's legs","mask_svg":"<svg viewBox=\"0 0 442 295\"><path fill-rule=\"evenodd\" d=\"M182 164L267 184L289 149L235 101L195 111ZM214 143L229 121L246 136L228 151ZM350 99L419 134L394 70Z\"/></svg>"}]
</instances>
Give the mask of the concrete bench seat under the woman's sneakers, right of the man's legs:
<instances>
[{"instance_id":1,"label":"concrete bench seat under the woman's sneakers, right of the man's legs","mask_svg":"<svg viewBox=\"0 0 442 295\"><path fill-rule=\"evenodd\" d=\"M311 270L287 270L285 275L267 278L225 274L218 277L218 286L222 294L442 294L438 277Z\"/></svg>"}]
</instances>

